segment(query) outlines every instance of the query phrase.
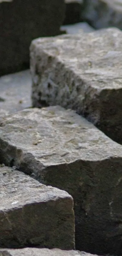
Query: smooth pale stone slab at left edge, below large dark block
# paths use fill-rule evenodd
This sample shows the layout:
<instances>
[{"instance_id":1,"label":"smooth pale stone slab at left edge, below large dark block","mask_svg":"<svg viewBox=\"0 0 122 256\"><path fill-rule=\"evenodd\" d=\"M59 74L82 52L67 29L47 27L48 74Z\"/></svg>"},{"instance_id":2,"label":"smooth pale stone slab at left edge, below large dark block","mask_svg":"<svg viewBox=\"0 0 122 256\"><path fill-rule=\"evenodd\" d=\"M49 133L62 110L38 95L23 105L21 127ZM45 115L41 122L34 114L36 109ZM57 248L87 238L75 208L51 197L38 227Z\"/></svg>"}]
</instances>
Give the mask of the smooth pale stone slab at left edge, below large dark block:
<instances>
[{"instance_id":1,"label":"smooth pale stone slab at left edge, below large dark block","mask_svg":"<svg viewBox=\"0 0 122 256\"><path fill-rule=\"evenodd\" d=\"M2 99L4 99L4 101L0 101L0 108L4 111L7 111L8 113L14 113L16 111L30 107L30 70L2 76L0 78L0 96Z\"/></svg>"}]
</instances>

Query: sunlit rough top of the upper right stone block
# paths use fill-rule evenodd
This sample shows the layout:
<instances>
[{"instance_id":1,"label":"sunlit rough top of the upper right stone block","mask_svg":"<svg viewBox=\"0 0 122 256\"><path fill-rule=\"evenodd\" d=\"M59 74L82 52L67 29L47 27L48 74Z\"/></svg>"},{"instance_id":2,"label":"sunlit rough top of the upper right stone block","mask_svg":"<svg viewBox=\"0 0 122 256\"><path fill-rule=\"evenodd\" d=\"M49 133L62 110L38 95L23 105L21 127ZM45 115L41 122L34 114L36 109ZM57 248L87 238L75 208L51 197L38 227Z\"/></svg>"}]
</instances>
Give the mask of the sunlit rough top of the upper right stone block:
<instances>
[{"instance_id":1,"label":"sunlit rough top of the upper right stone block","mask_svg":"<svg viewBox=\"0 0 122 256\"><path fill-rule=\"evenodd\" d=\"M62 62L82 79L88 79L97 90L122 88L122 31L108 28L89 34L61 35L38 38L30 46L31 57L55 57L55 65ZM36 63L36 64L37 64ZM34 73L34 62L31 74Z\"/></svg>"}]
</instances>

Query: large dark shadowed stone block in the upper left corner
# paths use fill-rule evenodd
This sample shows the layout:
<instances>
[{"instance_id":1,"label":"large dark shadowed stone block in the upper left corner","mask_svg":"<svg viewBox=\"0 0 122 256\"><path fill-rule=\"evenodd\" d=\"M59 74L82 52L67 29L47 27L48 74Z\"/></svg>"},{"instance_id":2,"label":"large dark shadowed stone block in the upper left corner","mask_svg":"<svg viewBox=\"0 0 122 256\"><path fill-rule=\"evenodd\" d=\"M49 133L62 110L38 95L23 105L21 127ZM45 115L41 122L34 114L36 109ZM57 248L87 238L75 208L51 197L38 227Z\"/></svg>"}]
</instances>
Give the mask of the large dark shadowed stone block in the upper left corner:
<instances>
[{"instance_id":1,"label":"large dark shadowed stone block in the upper left corner","mask_svg":"<svg viewBox=\"0 0 122 256\"><path fill-rule=\"evenodd\" d=\"M64 0L0 3L0 75L27 68L31 41L61 34L64 13Z\"/></svg>"}]
</instances>

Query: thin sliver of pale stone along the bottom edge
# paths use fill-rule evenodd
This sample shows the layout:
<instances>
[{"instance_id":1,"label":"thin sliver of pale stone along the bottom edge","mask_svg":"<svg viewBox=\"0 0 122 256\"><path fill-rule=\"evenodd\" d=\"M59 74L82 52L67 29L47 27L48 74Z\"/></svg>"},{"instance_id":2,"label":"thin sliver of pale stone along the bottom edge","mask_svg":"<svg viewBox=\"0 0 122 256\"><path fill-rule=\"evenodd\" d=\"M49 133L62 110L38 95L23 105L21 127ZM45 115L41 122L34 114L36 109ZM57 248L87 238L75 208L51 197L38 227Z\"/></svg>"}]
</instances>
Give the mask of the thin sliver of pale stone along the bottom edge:
<instances>
[{"instance_id":1,"label":"thin sliver of pale stone along the bottom edge","mask_svg":"<svg viewBox=\"0 0 122 256\"><path fill-rule=\"evenodd\" d=\"M57 248L49 250L47 248L38 249L27 247L24 249L6 249L6 251L0 249L0 256L93 256L93 254L83 251L65 251Z\"/></svg>"}]
</instances>

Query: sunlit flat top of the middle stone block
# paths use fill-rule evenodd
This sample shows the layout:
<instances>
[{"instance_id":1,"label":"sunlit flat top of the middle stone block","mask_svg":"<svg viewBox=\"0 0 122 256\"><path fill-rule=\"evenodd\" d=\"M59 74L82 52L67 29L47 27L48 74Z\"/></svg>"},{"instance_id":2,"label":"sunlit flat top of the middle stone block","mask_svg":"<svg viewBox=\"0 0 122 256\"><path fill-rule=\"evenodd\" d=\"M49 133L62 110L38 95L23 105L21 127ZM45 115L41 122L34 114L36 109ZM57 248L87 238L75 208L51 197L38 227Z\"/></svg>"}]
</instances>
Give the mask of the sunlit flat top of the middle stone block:
<instances>
[{"instance_id":1,"label":"sunlit flat top of the middle stone block","mask_svg":"<svg viewBox=\"0 0 122 256\"><path fill-rule=\"evenodd\" d=\"M38 170L77 159L97 161L122 156L121 145L73 110L60 106L25 109L5 118L0 127L0 141L6 158L8 148L18 161L24 155L28 161L36 161Z\"/></svg>"}]
</instances>

